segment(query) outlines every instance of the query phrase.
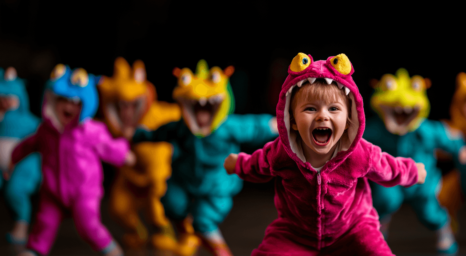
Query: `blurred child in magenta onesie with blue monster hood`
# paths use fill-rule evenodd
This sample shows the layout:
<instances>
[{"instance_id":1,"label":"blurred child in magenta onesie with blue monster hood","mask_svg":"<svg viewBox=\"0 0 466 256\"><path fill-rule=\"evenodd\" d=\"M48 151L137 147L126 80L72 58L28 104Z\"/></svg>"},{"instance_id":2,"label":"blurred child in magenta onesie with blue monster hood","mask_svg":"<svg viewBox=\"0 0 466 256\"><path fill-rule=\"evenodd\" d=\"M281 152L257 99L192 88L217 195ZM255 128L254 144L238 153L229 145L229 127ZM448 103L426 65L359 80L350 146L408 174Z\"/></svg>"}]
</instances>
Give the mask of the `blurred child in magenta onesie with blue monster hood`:
<instances>
[{"instance_id":1,"label":"blurred child in magenta onesie with blue monster hood","mask_svg":"<svg viewBox=\"0 0 466 256\"><path fill-rule=\"evenodd\" d=\"M42 156L39 209L21 256L48 255L67 215L92 249L123 255L100 218L101 160L122 166L134 164L135 156L126 139L113 139L103 123L91 119L97 107L96 78L82 68L56 65L46 84L43 122L12 153L12 164L32 152Z\"/></svg>"}]
</instances>

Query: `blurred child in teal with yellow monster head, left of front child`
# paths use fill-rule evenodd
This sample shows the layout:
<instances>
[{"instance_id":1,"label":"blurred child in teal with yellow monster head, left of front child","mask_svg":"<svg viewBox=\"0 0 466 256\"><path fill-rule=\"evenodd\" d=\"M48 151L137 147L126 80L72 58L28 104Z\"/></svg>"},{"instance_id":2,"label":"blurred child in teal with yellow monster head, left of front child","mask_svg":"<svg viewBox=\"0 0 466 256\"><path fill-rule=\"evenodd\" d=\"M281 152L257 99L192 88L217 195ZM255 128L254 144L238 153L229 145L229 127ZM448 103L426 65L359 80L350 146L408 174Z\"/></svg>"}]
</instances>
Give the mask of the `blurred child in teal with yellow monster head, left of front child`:
<instances>
[{"instance_id":1,"label":"blurred child in teal with yellow monster head, left of front child","mask_svg":"<svg viewBox=\"0 0 466 256\"><path fill-rule=\"evenodd\" d=\"M133 142L167 141L174 147L172 176L162 198L165 213L173 220L193 217L193 227L216 256L231 251L218 225L233 206L233 196L243 181L226 174L223 161L240 144L260 147L278 136L276 118L270 114L232 114L234 99L229 77L233 67L208 69L200 60L196 74L188 68L173 70L178 86L173 98L182 107L183 120L156 131L138 129Z\"/></svg>"}]
</instances>

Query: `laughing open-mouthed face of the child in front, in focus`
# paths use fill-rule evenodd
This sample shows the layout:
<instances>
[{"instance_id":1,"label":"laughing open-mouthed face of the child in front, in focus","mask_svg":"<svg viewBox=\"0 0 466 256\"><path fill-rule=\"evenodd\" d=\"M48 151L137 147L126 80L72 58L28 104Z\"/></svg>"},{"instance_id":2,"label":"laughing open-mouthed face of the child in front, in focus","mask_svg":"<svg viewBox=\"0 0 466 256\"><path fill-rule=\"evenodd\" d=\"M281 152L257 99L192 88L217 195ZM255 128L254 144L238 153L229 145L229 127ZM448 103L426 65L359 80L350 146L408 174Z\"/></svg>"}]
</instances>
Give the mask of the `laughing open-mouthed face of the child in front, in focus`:
<instances>
[{"instance_id":1,"label":"laughing open-mouthed face of the child in front, in focus","mask_svg":"<svg viewBox=\"0 0 466 256\"><path fill-rule=\"evenodd\" d=\"M319 155L333 154L348 128L347 102L343 97L334 97L327 102L302 94L296 96L291 127L301 135L304 155L315 155L312 151Z\"/></svg>"}]
</instances>

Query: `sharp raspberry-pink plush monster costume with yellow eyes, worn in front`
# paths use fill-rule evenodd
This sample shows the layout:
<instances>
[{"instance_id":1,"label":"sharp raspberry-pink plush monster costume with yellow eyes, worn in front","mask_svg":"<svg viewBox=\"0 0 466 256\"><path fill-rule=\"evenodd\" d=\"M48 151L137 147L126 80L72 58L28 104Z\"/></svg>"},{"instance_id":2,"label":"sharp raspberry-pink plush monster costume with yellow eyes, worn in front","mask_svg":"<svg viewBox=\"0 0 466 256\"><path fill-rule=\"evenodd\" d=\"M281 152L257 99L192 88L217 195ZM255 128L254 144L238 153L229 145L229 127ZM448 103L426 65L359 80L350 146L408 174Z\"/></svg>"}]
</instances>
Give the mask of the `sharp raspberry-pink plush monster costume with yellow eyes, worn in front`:
<instances>
[{"instance_id":1,"label":"sharp raspberry-pink plush monster costume with yellow eyes, worn in front","mask_svg":"<svg viewBox=\"0 0 466 256\"><path fill-rule=\"evenodd\" d=\"M299 53L282 85L277 105L279 138L252 155L240 153L235 173L250 182L275 178L278 219L267 227L252 256L386 255L393 256L379 231L368 179L385 186L418 181L415 162L395 158L362 139L363 100L344 54L312 61ZM316 171L302 154L300 135L290 128L289 88L306 78L332 79L349 89L352 125L334 157ZM328 85L335 86L335 85ZM342 86L342 88L343 88Z\"/></svg>"}]
</instances>

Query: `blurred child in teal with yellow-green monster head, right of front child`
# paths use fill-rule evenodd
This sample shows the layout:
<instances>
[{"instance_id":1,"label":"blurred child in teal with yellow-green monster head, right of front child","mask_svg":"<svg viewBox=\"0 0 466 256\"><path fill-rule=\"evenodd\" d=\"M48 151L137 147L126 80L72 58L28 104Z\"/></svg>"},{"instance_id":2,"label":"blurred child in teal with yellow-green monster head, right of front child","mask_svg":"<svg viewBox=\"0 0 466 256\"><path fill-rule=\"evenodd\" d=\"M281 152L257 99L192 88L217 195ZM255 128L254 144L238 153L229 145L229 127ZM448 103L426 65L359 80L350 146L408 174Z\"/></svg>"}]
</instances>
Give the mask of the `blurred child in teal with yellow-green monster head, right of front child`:
<instances>
[{"instance_id":1,"label":"blurred child in teal with yellow-green monster head, right of front child","mask_svg":"<svg viewBox=\"0 0 466 256\"><path fill-rule=\"evenodd\" d=\"M427 171L424 184L409 188L386 188L370 183L373 204L382 224L381 231L387 234L391 215L406 201L425 227L436 231L438 251L456 253L458 244L448 214L437 199L441 171L436 167L434 150L441 148L451 153L456 166L464 169L459 162L466 162L465 143L462 138L450 135L440 121L426 119L430 111L426 94L431 85L428 78L410 78L408 71L399 69L395 76L386 74L380 81L372 80L371 84L375 92L370 104L381 120L377 117L368 120L363 137L393 156L411 157L425 164Z\"/></svg>"}]
</instances>

